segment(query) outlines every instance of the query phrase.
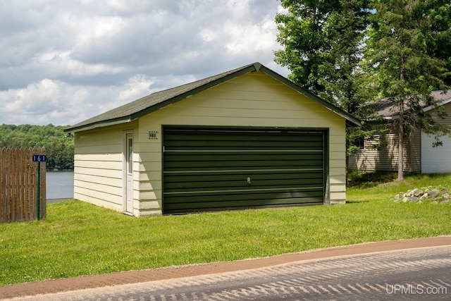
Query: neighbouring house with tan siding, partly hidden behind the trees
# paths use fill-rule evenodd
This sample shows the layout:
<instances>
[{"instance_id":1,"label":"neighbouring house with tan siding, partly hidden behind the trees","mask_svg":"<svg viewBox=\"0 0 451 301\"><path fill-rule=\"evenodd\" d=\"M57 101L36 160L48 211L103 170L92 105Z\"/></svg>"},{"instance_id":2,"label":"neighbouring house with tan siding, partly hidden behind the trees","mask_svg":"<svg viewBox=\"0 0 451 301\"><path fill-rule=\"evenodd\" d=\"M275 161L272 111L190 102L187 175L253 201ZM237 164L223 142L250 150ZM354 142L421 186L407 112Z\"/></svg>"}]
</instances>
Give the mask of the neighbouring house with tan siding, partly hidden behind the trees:
<instances>
[{"instance_id":1,"label":"neighbouring house with tan siding, partly hidden behind the trees","mask_svg":"<svg viewBox=\"0 0 451 301\"><path fill-rule=\"evenodd\" d=\"M443 125L451 125L451 91L446 94L435 91L432 97L440 102L440 106L447 112L445 119L438 118ZM393 120L399 118L393 113L392 106L381 102L378 115L382 116L388 132L376 136L374 140L365 140L362 149L354 156L350 156L349 168L362 171L397 171L398 159L398 131L393 128ZM434 114L431 106L424 106L424 111ZM440 137L441 147L433 147L435 137L427 135L421 130L415 130L404 140L404 171L414 173L451 173L451 138ZM375 147L376 146L376 147Z\"/></svg>"}]
</instances>

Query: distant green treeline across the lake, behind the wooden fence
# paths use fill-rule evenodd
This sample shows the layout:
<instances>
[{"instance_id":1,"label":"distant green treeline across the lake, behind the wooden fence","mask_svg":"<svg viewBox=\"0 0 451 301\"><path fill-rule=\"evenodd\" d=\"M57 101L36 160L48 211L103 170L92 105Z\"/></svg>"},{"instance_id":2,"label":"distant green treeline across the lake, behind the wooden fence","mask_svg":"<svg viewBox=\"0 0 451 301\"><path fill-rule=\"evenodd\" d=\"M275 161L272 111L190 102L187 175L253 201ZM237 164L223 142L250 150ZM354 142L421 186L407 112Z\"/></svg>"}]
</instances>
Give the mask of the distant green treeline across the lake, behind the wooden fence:
<instances>
[{"instance_id":1,"label":"distant green treeline across the lake, behind the wooden fence","mask_svg":"<svg viewBox=\"0 0 451 301\"><path fill-rule=\"evenodd\" d=\"M0 148L45 147L47 169L73 169L73 137L62 125L0 125Z\"/></svg>"}]
</instances>

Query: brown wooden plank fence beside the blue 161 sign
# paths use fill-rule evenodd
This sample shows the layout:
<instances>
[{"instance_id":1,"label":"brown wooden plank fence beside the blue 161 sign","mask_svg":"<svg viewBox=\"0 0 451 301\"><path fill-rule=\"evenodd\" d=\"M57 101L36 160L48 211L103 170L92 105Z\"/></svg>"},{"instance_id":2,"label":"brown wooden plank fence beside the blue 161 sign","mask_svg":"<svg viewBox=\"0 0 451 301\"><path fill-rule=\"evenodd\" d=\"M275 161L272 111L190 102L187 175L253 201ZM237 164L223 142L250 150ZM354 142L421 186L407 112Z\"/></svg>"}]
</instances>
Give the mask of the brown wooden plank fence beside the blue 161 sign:
<instances>
[{"instance_id":1,"label":"brown wooden plank fence beside the blue 161 sign","mask_svg":"<svg viewBox=\"0 0 451 301\"><path fill-rule=\"evenodd\" d=\"M0 149L0 223L31 221L37 218L38 162L32 161L35 154L45 154L45 149ZM39 165L39 219L45 219L46 164Z\"/></svg>"}]
</instances>

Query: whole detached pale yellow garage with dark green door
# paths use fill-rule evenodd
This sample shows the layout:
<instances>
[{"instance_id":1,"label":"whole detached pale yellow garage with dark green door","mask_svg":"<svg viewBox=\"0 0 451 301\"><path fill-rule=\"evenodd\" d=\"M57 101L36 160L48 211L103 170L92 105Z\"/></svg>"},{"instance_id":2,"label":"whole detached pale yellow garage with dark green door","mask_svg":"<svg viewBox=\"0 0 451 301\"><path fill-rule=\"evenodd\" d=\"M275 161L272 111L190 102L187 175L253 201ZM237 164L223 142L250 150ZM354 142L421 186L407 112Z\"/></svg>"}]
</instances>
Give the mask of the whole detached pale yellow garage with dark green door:
<instances>
[{"instance_id":1,"label":"whole detached pale yellow garage with dark green door","mask_svg":"<svg viewBox=\"0 0 451 301\"><path fill-rule=\"evenodd\" d=\"M350 114L253 63L70 126L74 197L125 214L342 204Z\"/></svg>"}]
</instances>

